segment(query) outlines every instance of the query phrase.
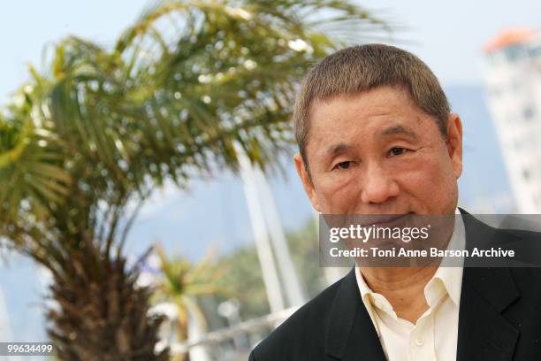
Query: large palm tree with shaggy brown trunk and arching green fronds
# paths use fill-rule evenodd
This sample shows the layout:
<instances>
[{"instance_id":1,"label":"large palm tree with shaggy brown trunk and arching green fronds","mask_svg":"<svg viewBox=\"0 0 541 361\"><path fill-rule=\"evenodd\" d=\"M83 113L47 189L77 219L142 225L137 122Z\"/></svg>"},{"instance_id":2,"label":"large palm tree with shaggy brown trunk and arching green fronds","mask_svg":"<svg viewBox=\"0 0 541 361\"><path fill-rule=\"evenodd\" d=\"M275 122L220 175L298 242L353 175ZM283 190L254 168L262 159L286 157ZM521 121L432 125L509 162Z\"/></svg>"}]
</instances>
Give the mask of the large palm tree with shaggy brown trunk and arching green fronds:
<instances>
[{"instance_id":1,"label":"large palm tree with shaggy brown trunk and arching green fronds","mask_svg":"<svg viewBox=\"0 0 541 361\"><path fill-rule=\"evenodd\" d=\"M162 1L114 47L70 37L31 69L0 114L0 241L52 273L60 359L168 357L123 254L141 204L236 170L236 144L271 169L306 68L383 27L342 1Z\"/></svg>"}]
</instances>

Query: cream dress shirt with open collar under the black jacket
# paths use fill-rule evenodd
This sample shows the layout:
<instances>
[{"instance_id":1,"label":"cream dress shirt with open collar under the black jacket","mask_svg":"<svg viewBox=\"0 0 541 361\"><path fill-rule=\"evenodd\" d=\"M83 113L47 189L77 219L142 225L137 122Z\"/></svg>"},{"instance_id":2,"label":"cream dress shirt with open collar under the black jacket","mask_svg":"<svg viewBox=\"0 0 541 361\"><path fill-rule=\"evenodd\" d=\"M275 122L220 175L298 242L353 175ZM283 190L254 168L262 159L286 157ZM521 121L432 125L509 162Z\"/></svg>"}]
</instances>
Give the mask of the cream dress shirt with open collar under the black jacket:
<instances>
[{"instance_id":1,"label":"cream dress shirt with open collar under the black jacket","mask_svg":"<svg viewBox=\"0 0 541 361\"><path fill-rule=\"evenodd\" d=\"M448 248L464 249L466 233L460 211ZM461 302L461 266L440 266L424 288L429 309L415 325L397 317L385 296L372 292L355 270L362 303L370 314L388 361L455 361Z\"/></svg>"}]
</instances>

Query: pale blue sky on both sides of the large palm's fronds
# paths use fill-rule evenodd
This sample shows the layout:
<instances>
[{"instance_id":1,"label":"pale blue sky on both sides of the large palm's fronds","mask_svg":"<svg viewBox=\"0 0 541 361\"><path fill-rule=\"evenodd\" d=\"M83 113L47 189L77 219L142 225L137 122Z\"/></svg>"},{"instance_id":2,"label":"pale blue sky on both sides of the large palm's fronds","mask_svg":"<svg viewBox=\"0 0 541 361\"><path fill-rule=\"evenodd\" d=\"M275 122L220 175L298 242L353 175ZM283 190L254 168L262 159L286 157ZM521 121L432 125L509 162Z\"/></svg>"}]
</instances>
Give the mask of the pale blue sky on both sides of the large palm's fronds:
<instances>
[{"instance_id":1,"label":"pale blue sky on both sides of the large palm's fronds","mask_svg":"<svg viewBox=\"0 0 541 361\"><path fill-rule=\"evenodd\" d=\"M112 44L133 23L146 0L19 0L6 3L0 21L0 104L27 79L27 63L39 65L46 44L78 35ZM539 27L541 2L531 0L362 0L392 24L407 29L398 42L413 50L444 84L480 83L483 44L507 27Z\"/></svg>"}]
</instances>

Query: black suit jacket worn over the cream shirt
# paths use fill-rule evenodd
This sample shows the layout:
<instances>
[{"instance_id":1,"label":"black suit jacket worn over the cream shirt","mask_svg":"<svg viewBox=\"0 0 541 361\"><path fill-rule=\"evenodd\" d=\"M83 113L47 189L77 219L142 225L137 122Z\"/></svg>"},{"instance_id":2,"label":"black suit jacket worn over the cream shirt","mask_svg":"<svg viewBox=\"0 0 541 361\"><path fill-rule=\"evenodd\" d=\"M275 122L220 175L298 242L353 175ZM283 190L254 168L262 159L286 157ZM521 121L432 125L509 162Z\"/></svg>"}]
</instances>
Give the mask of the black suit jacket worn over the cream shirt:
<instances>
[{"instance_id":1,"label":"black suit jacket worn over the cream shirt","mask_svg":"<svg viewBox=\"0 0 541 361\"><path fill-rule=\"evenodd\" d=\"M471 217L464 223L467 244L471 240L541 244L537 233L504 232ZM354 269L293 313L249 358L319 360L385 360ZM464 267L457 360L541 361L541 268Z\"/></svg>"}]
</instances>

